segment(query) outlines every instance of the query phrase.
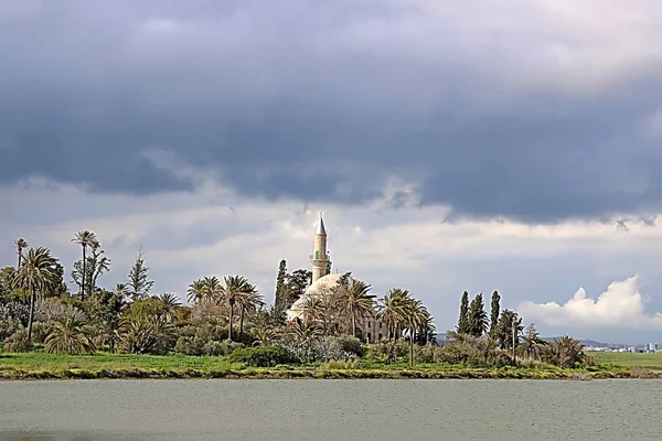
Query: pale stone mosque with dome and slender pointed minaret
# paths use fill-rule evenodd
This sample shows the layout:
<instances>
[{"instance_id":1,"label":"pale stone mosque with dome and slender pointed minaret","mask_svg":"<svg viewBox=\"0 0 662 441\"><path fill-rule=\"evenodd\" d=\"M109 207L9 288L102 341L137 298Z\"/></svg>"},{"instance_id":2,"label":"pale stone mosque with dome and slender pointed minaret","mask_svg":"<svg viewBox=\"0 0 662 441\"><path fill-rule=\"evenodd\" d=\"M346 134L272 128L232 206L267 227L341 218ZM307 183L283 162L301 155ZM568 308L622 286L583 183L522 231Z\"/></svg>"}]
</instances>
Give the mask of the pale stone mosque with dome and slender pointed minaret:
<instances>
[{"instance_id":1,"label":"pale stone mosque with dome and slender pointed minaret","mask_svg":"<svg viewBox=\"0 0 662 441\"><path fill-rule=\"evenodd\" d=\"M303 294L292 303L291 308L286 311L287 320L292 321L295 319L302 319L306 301L310 298L320 295L330 295L333 288L338 286L338 282L342 275L330 273L331 268L331 256L327 251L327 228L324 227L324 220L320 213L320 220L314 232L313 241L313 254L310 256L310 262L312 263L312 283ZM377 343L382 338L386 338L387 332L386 326L381 320L373 316L359 318L356 322L359 329L360 338L365 343Z\"/></svg>"}]
</instances>

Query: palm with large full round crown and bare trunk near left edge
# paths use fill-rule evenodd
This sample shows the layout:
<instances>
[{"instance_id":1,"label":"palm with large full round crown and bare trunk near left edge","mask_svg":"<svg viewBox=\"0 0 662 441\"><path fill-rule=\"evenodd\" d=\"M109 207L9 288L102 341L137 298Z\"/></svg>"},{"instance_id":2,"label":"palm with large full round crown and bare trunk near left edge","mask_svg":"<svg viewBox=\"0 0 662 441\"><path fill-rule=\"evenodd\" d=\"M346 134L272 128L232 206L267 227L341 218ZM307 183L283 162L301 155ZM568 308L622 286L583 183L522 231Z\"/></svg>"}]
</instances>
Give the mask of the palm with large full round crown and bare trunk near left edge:
<instances>
[{"instance_id":1,"label":"palm with large full round crown and bare trunk near left edge","mask_svg":"<svg viewBox=\"0 0 662 441\"><path fill-rule=\"evenodd\" d=\"M32 322L34 320L34 303L36 291L44 292L56 278L57 259L51 256L47 248L31 248L21 267L15 273L14 283L30 292L30 319L28 320L28 340L32 338Z\"/></svg>"}]
</instances>

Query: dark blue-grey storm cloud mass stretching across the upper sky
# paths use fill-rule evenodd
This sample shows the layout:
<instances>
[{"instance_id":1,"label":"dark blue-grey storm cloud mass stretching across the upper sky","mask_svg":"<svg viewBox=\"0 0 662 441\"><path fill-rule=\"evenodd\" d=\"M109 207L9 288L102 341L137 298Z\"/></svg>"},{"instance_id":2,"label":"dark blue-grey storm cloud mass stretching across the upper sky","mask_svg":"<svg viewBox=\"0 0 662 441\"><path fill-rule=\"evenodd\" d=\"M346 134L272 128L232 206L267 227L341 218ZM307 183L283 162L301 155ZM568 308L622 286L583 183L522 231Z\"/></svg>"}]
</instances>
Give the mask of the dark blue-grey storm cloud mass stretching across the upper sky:
<instances>
[{"instance_id":1,"label":"dark blue-grey storm cloud mass stretching across the upper sky","mask_svg":"<svg viewBox=\"0 0 662 441\"><path fill-rule=\"evenodd\" d=\"M4 184L191 189L147 159L156 147L269 198L354 203L397 174L460 216L662 207L662 152L640 132L660 107L650 68L599 94L517 80L511 93L504 74L526 84L524 68L404 1L12 3L0 8Z\"/></svg>"}]
</instances>

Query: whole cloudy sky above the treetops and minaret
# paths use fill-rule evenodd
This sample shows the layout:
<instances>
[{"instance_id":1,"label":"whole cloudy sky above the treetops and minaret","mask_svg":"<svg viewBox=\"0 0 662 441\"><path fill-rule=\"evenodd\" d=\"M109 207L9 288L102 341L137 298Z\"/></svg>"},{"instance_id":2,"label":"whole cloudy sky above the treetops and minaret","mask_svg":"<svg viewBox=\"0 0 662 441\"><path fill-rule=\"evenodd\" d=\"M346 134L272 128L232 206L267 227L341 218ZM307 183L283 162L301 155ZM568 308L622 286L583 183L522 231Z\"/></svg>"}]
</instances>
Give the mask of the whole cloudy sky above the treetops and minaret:
<instances>
[{"instance_id":1,"label":"whole cloudy sky above the treetops and minaret","mask_svg":"<svg viewBox=\"0 0 662 441\"><path fill-rule=\"evenodd\" d=\"M662 342L658 0L0 0L0 266L81 229L154 292L309 268Z\"/></svg>"}]
</instances>

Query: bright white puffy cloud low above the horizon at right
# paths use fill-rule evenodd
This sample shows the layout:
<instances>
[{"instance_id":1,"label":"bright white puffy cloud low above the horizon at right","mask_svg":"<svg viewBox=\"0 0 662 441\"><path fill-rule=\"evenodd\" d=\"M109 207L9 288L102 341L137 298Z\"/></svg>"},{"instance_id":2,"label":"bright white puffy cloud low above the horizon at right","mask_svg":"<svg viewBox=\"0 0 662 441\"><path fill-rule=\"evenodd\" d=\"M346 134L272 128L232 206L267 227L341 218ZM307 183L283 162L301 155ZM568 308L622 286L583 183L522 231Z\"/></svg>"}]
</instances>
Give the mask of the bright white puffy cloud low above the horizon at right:
<instances>
[{"instance_id":1,"label":"bright white puffy cloud low above the horizon at right","mask_svg":"<svg viewBox=\"0 0 662 441\"><path fill-rule=\"evenodd\" d=\"M648 314L639 276L615 281L596 300L579 288L564 304L525 302L517 311L526 321L569 329L662 330L662 313Z\"/></svg>"}]
</instances>

